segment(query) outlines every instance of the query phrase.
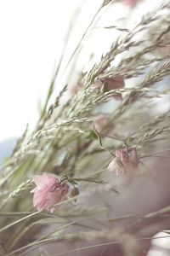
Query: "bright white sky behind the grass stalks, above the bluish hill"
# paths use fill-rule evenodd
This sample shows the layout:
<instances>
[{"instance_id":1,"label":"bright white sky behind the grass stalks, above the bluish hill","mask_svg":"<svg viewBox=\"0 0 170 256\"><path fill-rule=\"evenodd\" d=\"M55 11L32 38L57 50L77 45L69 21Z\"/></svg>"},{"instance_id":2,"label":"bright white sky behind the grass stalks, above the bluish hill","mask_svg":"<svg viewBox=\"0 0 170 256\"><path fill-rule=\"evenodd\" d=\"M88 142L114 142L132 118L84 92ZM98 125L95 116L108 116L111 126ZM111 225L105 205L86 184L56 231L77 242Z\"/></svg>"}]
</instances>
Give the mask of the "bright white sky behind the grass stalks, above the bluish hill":
<instances>
[{"instance_id":1,"label":"bright white sky behind the grass stalks, above the bluish hill","mask_svg":"<svg viewBox=\"0 0 170 256\"><path fill-rule=\"evenodd\" d=\"M154 0L156 2L160 1ZM76 20L78 28L69 55L102 1L0 0L0 141L20 137L27 122L31 128L35 125L37 109L44 102L54 63L59 61L71 15L80 3L85 11L82 18ZM150 0L147 3L150 6ZM122 11L128 13L129 9L123 9L122 4L117 6L115 19ZM142 14L140 6L137 11ZM133 17L134 12L131 15ZM112 16L105 15L107 24L113 21ZM101 33L96 32L88 54L86 50L82 52L82 63L88 61L90 48L98 51L100 58L105 45L111 45L107 36L105 34L105 42L101 42Z\"/></svg>"}]
</instances>

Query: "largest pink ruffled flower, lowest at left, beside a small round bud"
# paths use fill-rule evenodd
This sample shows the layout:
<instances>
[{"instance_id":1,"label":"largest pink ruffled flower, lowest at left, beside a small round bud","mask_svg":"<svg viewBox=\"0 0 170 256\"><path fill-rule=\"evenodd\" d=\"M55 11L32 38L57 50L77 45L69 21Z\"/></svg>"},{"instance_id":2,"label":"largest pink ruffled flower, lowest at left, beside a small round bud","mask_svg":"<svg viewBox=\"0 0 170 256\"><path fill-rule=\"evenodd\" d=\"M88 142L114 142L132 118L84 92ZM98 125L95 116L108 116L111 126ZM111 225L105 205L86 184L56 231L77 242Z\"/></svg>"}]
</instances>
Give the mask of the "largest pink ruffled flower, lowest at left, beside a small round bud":
<instances>
[{"instance_id":1,"label":"largest pink ruffled flower, lowest at left, beside a small round bud","mask_svg":"<svg viewBox=\"0 0 170 256\"><path fill-rule=\"evenodd\" d=\"M60 179L53 177L48 173L34 175L34 182L37 187L31 190L34 193L33 205L37 207L38 212L48 209L51 213L59 208L55 204L66 199L69 186L66 183L60 183Z\"/></svg>"}]
</instances>

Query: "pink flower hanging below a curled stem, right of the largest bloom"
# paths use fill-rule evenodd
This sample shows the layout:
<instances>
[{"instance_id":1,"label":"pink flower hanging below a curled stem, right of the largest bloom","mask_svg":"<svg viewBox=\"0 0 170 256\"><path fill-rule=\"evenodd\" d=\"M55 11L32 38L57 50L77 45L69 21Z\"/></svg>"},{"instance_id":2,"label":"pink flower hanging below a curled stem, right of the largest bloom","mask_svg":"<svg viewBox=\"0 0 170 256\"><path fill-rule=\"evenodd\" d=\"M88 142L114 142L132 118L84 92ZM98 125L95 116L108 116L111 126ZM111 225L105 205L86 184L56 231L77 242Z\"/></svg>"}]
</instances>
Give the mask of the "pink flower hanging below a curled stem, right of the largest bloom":
<instances>
[{"instance_id":1,"label":"pink flower hanging below a curled stem, right of the largest bloom","mask_svg":"<svg viewBox=\"0 0 170 256\"><path fill-rule=\"evenodd\" d=\"M130 169L137 169L139 166L139 158L136 148L117 149L116 157L111 161L107 170L110 172L116 171L116 175L126 175Z\"/></svg>"}]
</instances>

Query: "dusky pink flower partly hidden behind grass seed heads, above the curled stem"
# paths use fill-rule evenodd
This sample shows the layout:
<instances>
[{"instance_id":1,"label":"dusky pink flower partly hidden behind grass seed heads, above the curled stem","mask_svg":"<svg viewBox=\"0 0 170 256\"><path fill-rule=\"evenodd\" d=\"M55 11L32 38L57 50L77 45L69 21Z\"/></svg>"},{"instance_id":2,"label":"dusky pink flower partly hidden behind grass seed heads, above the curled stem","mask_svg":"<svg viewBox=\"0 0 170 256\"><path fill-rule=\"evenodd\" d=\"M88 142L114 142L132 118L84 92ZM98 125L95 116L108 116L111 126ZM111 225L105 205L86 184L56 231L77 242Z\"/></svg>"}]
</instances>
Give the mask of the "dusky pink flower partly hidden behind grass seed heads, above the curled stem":
<instances>
[{"instance_id":1,"label":"dusky pink flower partly hidden behind grass seed heads, above the curled stem","mask_svg":"<svg viewBox=\"0 0 170 256\"><path fill-rule=\"evenodd\" d=\"M102 84L104 84L104 92L114 89L122 89L125 87L125 82L122 75L116 75L113 78L100 79L97 86L101 87ZM122 100L121 93L116 93L113 97L116 100Z\"/></svg>"}]
</instances>

